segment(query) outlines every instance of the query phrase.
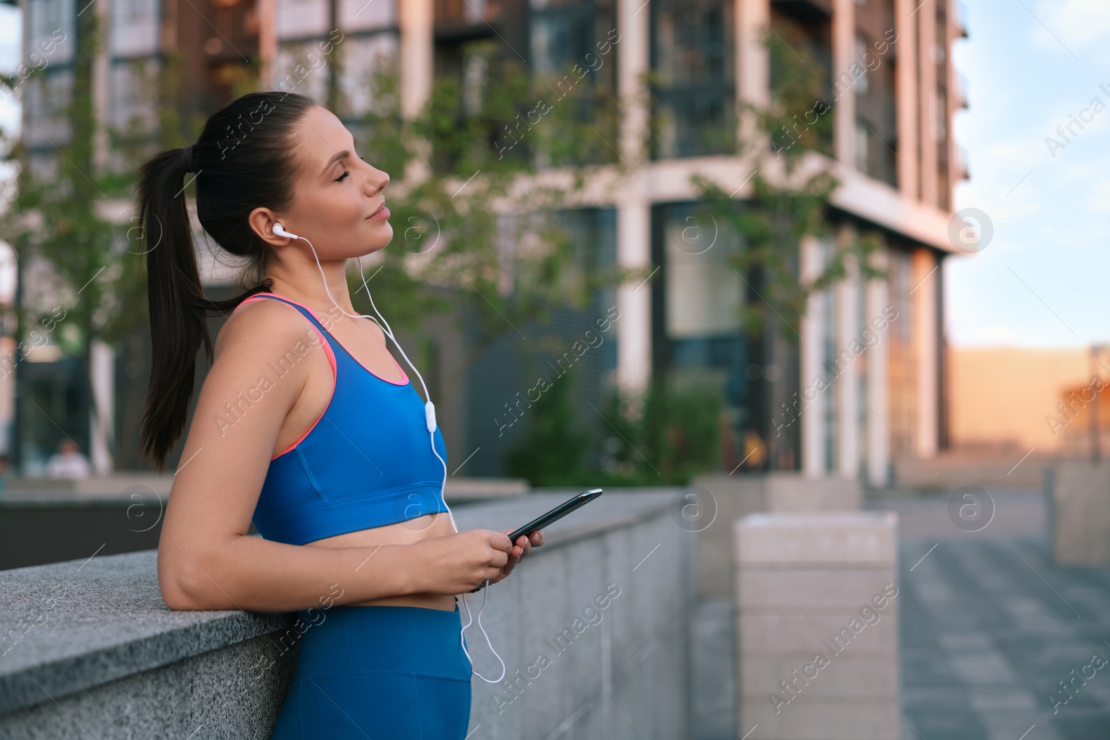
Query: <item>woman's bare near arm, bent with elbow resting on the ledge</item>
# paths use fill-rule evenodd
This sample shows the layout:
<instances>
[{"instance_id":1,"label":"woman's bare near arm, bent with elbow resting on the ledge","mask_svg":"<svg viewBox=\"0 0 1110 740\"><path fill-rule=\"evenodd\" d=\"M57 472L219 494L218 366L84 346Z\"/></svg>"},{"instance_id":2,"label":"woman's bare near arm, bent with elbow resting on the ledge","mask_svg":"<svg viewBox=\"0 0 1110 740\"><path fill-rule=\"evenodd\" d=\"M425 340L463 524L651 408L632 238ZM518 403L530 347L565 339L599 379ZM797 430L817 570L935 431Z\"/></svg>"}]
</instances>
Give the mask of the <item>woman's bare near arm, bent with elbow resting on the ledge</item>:
<instances>
[{"instance_id":1,"label":"woman's bare near arm, bent with elbow resting on the ledge","mask_svg":"<svg viewBox=\"0 0 1110 740\"><path fill-rule=\"evenodd\" d=\"M159 540L167 606L294 611L329 598L349 604L437 589L463 592L495 578L508 555L494 545L512 546L504 534L490 530L436 538L444 541L428 546L350 548L286 545L246 534L286 415L311 378L317 384L329 378L331 386L321 339L303 317L291 321L283 313L294 311L271 301L251 304L220 332ZM279 377L269 363L283 356L293 359ZM263 386L263 376L271 383ZM307 428L322 412L294 409L303 416L297 427Z\"/></svg>"}]
</instances>

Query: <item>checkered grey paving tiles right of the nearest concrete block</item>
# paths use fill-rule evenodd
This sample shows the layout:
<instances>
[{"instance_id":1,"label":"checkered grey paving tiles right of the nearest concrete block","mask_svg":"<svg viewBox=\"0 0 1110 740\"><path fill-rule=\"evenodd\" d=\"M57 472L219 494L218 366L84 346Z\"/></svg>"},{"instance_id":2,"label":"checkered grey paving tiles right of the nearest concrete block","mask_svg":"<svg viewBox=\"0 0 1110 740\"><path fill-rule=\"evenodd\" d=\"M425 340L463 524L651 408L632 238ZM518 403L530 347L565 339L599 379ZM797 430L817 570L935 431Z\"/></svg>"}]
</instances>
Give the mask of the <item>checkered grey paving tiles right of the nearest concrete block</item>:
<instances>
[{"instance_id":1,"label":"checkered grey paving tiles right of the nearest concrete block","mask_svg":"<svg viewBox=\"0 0 1110 740\"><path fill-rule=\"evenodd\" d=\"M1050 699L1110 658L1110 568L1057 569L1043 534L1013 533L904 539L899 569L904 740L1110 740L1110 665Z\"/></svg>"}]
</instances>

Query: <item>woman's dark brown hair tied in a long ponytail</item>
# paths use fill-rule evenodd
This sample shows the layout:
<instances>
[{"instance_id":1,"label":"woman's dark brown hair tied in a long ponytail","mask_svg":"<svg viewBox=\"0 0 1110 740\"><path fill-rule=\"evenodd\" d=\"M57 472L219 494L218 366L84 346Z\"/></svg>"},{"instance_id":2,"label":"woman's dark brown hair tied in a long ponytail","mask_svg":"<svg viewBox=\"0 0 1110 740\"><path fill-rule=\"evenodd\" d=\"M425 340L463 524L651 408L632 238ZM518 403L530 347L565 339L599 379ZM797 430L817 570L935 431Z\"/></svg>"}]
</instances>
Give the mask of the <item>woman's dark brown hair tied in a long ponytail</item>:
<instances>
[{"instance_id":1,"label":"woman's dark brown hair tied in a long ponytail","mask_svg":"<svg viewBox=\"0 0 1110 740\"><path fill-rule=\"evenodd\" d=\"M289 135L314 104L297 93L249 93L214 113L195 144L155 154L139 170L137 207L147 255L151 338L140 454L151 458L158 472L165 469L167 456L184 429L202 345L212 359L208 316L225 315L273 284L264 278L269 247L251 230L248 216L255 207L283 210L291 202L295 163ZM233 131L242 139L229 133ZM226 301L210 301L201 285L185 207L189 173L195 173L196 215L204 231L248 261L241 283L250 287Z\"/></svg>"}]
</instances>

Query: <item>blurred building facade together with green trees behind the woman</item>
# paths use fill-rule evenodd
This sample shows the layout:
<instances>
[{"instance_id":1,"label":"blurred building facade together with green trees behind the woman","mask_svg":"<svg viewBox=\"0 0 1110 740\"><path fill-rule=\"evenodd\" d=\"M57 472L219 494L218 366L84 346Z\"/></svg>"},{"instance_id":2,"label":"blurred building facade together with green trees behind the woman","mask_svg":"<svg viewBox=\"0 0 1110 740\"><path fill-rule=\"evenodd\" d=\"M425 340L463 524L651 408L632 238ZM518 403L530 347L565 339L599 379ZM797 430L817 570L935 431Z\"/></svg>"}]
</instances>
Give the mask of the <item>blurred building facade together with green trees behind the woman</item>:
<instances>
[{"instance_id":1,"label":"blurred building facade together with green trees behind the woman","mask_svg":"<svg viewBox=\"0 0 1110 740\"><path fill-rule=\"evenodd\" d=\"M934 8L924 43L892 0L854 3L844 28L826 6L648 2L628 28L612 1L11 7L13 473L43 475L67 437L97 473L142 469L135 168L260 87L315 97L393 175L375 285L451 409L452 457L481 448L470 474L662 473L606 424L617 391L655 393L638 433L668 475L733 470L756 446L747 467L885 486L900 458L957 446L941 267L967 176L948 53L967 21ZM198 241L205 288L233 290ZM610 307L596 349L556 365ZM544 428L525 392L551 372L573 378L541 403L573 413ZM818 375L829 389L805 397ZM562 435L564 458L526 460L537 435Z\"/></svg>"}]
</instances>

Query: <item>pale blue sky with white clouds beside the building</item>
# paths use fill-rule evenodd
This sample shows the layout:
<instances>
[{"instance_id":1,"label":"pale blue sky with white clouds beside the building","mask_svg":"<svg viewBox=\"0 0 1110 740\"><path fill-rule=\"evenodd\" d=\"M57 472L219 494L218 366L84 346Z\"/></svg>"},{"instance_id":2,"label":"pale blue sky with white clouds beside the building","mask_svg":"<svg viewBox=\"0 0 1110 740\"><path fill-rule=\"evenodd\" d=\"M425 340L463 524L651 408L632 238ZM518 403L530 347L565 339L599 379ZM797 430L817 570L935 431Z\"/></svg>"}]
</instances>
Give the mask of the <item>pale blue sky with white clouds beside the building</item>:
<instances>
[{"instance_id":1,"label":"pale blue sky with white clouds beside the building","mask_svg":"<svg viewBox=\"0 0 1110 740\"><path fill-rule=\"evenodd\" d=\"M952 130L971 180L957 186L956 205L986 213L993 233L978 253L945 261L948 342L1110 342L1110 0L970 0L966 9L969 38L952 60L969 109ZM18 19L0 4L9 73ZM1072 124L1064 140L1057 126L1073 115L1093 121ZM0 102L0 126L17 122L10 99Z\"/></svg>"}]
</instances>

